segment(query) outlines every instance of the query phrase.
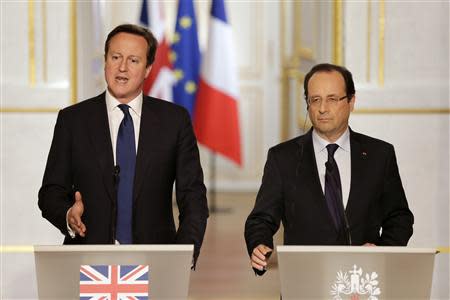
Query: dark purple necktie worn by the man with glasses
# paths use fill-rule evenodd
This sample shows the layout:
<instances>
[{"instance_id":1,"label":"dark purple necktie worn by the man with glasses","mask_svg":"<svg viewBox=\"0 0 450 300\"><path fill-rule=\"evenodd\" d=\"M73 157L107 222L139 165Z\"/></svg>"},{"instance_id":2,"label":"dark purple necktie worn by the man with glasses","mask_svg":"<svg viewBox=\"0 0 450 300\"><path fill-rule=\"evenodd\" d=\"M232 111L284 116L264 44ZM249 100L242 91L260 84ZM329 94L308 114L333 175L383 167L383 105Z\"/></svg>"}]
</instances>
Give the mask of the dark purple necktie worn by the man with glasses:
<instances>
[{"instance_id":1,"label":"dark purple necktie worn by the man with glasses","mask_svg":"<svg viewBox=\"0 0 450 300\"><path fill-rule=\"evenodd\" d=\"M334 160L334 153L337 148L339 146L336 144L327 145L328 161L325 163L325 199L327 200L334 225L337 230L340 230L342 226L342 188L339 168Z\"/></svg>"}]
</instances>

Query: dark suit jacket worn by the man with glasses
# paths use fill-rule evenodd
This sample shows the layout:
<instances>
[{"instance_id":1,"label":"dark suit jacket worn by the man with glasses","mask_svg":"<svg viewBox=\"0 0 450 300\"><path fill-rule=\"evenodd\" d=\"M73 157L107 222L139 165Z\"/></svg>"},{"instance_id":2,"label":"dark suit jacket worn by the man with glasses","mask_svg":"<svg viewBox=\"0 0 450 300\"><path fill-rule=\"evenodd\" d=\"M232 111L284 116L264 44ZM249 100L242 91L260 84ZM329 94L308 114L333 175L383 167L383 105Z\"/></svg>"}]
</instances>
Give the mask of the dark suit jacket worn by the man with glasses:
<instances>
[{"instance_id":1,"label":"dark suit jacket worn by the man with glasses","mask_svg":"<svg viewBox=\"0 0 450 300\"><path fill-rule=\"evenodd\" d=\"M414 218L393 146L350 130L350 148L351 185L345 214L352 244L406 245ZM255 207L245 224L249 254L259 244L273 248L272 236L280 220L286 245L348 244L348 233L335 229L326 204L312 130L269 150Z\"/></svg>"}]
</instances>

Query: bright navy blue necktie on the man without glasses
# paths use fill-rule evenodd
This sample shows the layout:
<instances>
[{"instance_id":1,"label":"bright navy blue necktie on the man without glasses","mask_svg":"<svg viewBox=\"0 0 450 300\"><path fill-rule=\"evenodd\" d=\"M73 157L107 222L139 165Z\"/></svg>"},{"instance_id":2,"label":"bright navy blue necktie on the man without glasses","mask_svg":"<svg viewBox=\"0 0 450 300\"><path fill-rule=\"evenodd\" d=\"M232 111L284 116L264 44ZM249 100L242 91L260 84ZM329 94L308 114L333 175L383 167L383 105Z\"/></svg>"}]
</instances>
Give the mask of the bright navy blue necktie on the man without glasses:
<instances>
[{"instance_id":1,"label":"bright navy blue necktie on the man without glasses","mask_svg":"<svg viewBox=\"0 0 450 300\"><path fill-rule=\"evenodd\" d=\"M116 240L121 244L131 244L133 242L132 214L136 146L130 107L126 104L120 104L119 108L122 110L124 117L120 123L116 147L116 160L120 168L117 187Z\"/></svg>"}]
</instances>

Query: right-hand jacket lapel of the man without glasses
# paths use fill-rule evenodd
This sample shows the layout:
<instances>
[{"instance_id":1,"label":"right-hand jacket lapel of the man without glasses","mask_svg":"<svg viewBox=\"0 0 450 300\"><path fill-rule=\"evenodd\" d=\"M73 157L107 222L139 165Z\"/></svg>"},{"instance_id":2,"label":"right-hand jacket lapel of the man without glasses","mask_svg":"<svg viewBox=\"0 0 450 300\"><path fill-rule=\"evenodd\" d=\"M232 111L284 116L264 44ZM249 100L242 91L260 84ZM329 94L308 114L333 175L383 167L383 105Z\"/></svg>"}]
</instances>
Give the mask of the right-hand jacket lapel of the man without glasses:
<instances>
[{"instance_id":1,"label":"right-hand jacket lapel of the man without glasses","mask_svg":"<svg viewBox=\"0 0 450 300\"><path fill-rule=\"evenodd\" d=\"M139 196L142 184L145 179L145 172L150 165L149 151L152 151L153 143L158 140L159 117L152 109L152 101L144 96L142 101L141 127L139 129L139 143L136 156L136 173L134 177L134 199Z\"/></svg>"}]
</instances>

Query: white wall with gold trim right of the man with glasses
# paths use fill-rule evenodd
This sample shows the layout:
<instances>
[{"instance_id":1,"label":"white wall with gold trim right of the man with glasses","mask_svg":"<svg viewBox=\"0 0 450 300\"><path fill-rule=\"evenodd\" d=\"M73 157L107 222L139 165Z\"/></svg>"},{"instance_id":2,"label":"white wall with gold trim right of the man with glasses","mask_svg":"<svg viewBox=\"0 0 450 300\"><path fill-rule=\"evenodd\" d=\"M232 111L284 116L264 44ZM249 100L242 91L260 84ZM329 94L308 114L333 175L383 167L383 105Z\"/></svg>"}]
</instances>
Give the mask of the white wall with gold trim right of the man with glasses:
<instances>
[{"instance_id":1,"label":"white wall with gold trim right of the man with glasses","mask_svg":"<svg viewBox=\"0 0 450 300\"><path fill-rule=\"evenodd\" d=\"M447 247L436 258L432 297L449 299L449 3L386 1L384 13L379 3L370 25L367 2L344 9L345 64L357 83L351 126L394 144L415 215L409 245Z\"/></svg>"}]
</instances>

